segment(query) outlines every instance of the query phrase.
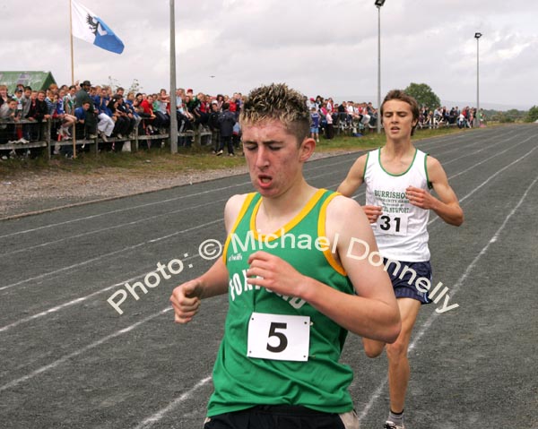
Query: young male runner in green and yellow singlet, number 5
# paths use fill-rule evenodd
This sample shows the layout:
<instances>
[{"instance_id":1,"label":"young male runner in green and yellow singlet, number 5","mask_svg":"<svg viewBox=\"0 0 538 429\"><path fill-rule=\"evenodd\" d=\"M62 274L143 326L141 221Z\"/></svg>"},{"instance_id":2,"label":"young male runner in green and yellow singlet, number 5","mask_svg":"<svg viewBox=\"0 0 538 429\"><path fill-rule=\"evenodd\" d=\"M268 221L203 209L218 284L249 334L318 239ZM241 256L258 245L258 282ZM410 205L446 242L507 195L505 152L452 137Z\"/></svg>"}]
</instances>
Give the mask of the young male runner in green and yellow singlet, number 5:
<instances>
[{"instance_id":1,"label":"young male runner in green and yellow singlet, number 5","mask_svg":"<svg viewBox=\"0 0 538 429\"><path fill-rule=\"evenodd\" d=\"M302 94L260 87L239 121L256 193L230 198L222 258L170 297L179 323L202 299L229 297L204 428L358 428L339 363L347 331L392 342L400 330L383 267L353 258L352 238L377 249L368 219L306 182L316 141Z\"/></svg>"}]
</instances>

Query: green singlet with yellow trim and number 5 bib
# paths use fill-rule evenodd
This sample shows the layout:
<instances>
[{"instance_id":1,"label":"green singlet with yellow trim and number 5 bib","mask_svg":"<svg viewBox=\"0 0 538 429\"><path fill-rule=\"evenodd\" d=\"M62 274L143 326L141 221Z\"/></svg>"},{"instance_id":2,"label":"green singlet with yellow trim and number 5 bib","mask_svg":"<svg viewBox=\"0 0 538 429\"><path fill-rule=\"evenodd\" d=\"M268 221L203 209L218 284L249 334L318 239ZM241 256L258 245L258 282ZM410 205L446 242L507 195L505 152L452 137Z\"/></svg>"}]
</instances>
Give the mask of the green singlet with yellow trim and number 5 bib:
<instances>
[{"instance_id":1,"label":"green singlet with yellow trim and number 5 bib","mask_svg":"<svg viewBox=\"0 0 538 429\"><path fill-rule=\"evenodd\" d=\"M273 234L256 231L259 193L249 193L222 257L229 271L224 338L213 368L208 416L255 405L301 405L327 413L351 411L351 368L339 363L347 330L307 302L247 284L247 260L264 250L301 274L353 294L325 238L327 204L337 193L320 189Z\"/></svg>"}]
</instances>

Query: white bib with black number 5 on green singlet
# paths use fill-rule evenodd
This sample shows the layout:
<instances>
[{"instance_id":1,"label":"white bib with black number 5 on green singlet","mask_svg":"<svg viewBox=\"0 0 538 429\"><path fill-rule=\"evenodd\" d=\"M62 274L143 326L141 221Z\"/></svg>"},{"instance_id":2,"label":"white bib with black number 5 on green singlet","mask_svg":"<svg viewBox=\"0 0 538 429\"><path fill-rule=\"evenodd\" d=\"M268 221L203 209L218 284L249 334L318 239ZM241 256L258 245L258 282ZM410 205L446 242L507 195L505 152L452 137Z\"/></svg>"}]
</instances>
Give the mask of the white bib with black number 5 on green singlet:
<instances>
[{"instance_id":1,"label":"white bib with black number 5 on green singlet","mask_svg":"<svg viewBox=\"0 0 538 429\"><path fill-rule=\"evenodd\" d=\"M307 361L309 345L308 316L251 314L248 322L248 357Z\"/></svg>"}]
</instances>

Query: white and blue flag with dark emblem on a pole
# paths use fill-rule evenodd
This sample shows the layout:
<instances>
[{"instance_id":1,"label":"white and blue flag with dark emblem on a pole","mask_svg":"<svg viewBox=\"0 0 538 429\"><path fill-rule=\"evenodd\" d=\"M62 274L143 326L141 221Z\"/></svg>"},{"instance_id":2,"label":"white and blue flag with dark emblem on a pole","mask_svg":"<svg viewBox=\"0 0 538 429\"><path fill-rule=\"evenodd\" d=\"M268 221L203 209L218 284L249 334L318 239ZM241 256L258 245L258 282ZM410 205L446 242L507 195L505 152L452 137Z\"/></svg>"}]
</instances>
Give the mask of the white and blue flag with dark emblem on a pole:
<instances>
[{"instance_id":1,"label":"white and blue flag with dark emblem on a pole","mask_svg":"<svg viewBox=\"0 0 538 429\"><path fill-rule=\"evenodd\" d=\"M97 47L102 47L116 54L123 52L123 42L99 16L74 0L71 2L71 13L71 31L75 38L86 40Z\"/></svg>"}]
</instances>

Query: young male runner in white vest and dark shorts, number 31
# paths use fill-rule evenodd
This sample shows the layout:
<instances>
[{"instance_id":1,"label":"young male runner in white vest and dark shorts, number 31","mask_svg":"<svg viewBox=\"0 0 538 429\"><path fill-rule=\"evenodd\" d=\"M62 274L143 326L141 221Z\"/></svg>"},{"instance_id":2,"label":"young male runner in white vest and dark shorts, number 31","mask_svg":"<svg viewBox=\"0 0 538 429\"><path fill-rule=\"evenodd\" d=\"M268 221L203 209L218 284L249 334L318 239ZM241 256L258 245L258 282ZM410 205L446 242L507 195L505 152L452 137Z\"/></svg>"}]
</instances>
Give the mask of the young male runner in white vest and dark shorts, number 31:
<instances>
[{"instance_id":1,"label":"young male runner in white vest and dark shorts, number 31","mask_svg":"<svg viewBox=\"0 0 538 429\"><path fill-rule=\"evenodd\" d=\"M398 339L386 345L390 410L384 427L404 429L410 374L407 348L421 304L431 302L428 290L422 285L417 288L412 275L431 279L427 230L430 210L455 226L464 221L464 212L439 161L412 145L411 136L419 119L416 100L404 91L391 90L381 105L381 116L386 145L357 159L338 192L351 196L360 184L366 184L363 210L385 259L402 316ZM430 194L432 187L438 198ZM363 343L370 357L379 356L385 347L383 342L371 339L363 339Z\"/></svg>"}]
</instances>

